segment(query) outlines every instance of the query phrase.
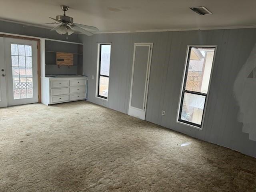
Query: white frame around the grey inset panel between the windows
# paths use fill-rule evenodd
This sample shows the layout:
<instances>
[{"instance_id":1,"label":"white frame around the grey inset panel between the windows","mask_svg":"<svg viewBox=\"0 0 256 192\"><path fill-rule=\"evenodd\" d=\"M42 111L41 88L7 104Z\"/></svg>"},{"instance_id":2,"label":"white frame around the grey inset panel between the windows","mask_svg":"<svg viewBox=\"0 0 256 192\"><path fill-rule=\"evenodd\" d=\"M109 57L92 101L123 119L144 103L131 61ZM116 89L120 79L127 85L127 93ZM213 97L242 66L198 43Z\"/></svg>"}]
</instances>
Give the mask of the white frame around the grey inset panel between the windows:
<instances>
[{"instance_id":1,"label":"white frame around the grey inset panel between the windows","mask_svg":"<svg viewBox=\"0 0 256 192\"><path fill-rule=\"evenodd\" d=\"M147 64L147 69L146 69L146 79L145 79L145 87L144 87L145 91L144 91L143 107L142 107L143 109L139 109L139 108L131 106L136 46L148 46L150 48L150 50L148 52L148 64ZM149 85L149 78L150 78L152 51L153 51L153 43L134 43L133 60L132 60L132 80L131 80L131 86L130 86L130 101L129 101L128 115L135 116L142 120L145 120L145 118L146 118L146 108L147 108L147 100L148 100L148 85ZM141 115L140 113L138 113L138 111L144 112L144 114Z\"/></svg>"}]
</instances>

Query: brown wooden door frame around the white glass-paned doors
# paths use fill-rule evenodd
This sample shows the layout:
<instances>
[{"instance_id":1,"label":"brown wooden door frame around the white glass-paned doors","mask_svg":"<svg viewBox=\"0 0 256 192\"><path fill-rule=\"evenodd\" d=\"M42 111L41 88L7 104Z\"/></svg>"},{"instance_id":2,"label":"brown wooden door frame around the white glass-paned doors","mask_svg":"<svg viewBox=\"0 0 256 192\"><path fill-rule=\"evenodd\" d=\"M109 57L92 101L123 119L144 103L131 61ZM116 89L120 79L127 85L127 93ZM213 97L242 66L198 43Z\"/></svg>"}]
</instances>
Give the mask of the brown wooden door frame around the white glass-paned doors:
<instances>
[{"instance_id":1,"label":"brown wooden door frame around the white glass-paned doors","mask_svg":"<svg viewBox=\"0 0 256 192\"><path fill-rule=\"evenodd\" d=\"M14 36L14 35L6 35L6 34L1 34L1 33L0 33L0 37L16 38L16 39L23 39L23 40L32 40L32 41L36 41L37 42L36 45L37 45L38 103L40 103L41 102L41 51L40 51L40 39L30 38L30 37L22 37L22 36ZM7 85L6 85L6 88L7 88Z\"/></svg>"}]
</instances>

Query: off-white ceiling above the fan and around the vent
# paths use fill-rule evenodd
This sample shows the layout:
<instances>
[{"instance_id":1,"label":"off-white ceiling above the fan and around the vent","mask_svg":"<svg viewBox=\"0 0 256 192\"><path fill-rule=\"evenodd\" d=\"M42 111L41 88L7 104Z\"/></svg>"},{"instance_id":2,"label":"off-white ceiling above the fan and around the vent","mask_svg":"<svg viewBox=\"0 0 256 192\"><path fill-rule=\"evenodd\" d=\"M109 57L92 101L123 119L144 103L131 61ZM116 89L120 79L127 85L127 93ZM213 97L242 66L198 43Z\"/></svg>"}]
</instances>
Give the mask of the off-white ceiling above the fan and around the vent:
<instances>
[{"instance_id":1,"label":"off-white ceiling above the fan and around the vent","mask_svg":"<svg viewBox=\"0 0 256 192\"><path fill-rule=\"evenodd\" d=\"M256 24L256 0L0 0L0 18L30 24L52 22L63 14L100 32L182 30ZM206 6L213 14L190 10ZM48 25L54 26L54 25Z\"/></svg>"}]
</instances>

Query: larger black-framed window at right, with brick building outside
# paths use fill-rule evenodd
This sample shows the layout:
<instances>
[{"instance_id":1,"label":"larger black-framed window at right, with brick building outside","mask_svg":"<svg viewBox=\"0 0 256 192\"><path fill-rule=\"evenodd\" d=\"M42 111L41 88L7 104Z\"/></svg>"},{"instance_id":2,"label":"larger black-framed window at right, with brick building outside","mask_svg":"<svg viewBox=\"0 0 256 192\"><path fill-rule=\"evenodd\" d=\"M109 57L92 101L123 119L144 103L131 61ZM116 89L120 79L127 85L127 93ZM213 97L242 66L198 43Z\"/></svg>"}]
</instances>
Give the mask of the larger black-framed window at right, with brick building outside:
<instances>
[{"instance_id":1,"label":"larger black-framed window at right, with brick building outside","mask_svg":"<svg viewBox=\"0 0 256 192\"><path fill-rule=\"evenodd\" d=\"M202 128L216 47L188 47L178 122Z\"/></svg>"}]
</instances>

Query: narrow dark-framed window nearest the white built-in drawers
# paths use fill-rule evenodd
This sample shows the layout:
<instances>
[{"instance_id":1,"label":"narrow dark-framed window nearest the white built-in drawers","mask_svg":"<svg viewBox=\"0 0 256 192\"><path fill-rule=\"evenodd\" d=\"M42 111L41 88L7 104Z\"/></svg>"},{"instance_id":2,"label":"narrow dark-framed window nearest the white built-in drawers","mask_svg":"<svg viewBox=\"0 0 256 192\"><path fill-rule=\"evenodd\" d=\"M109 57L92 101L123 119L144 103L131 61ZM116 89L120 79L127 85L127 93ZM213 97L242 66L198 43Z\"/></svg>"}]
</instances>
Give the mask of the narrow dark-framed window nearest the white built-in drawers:
<instances>
[{"instance_id":1,"label":"narrow dark-framed window nearest the white built-in drawers","mask_svg":"<svg viewBox=\"0 0 256 192\"><path fill-rule=\"evenodd\" d=\"M99 44L97 96L108 99L111 44Z\"/></svg>"}]
</instances>

